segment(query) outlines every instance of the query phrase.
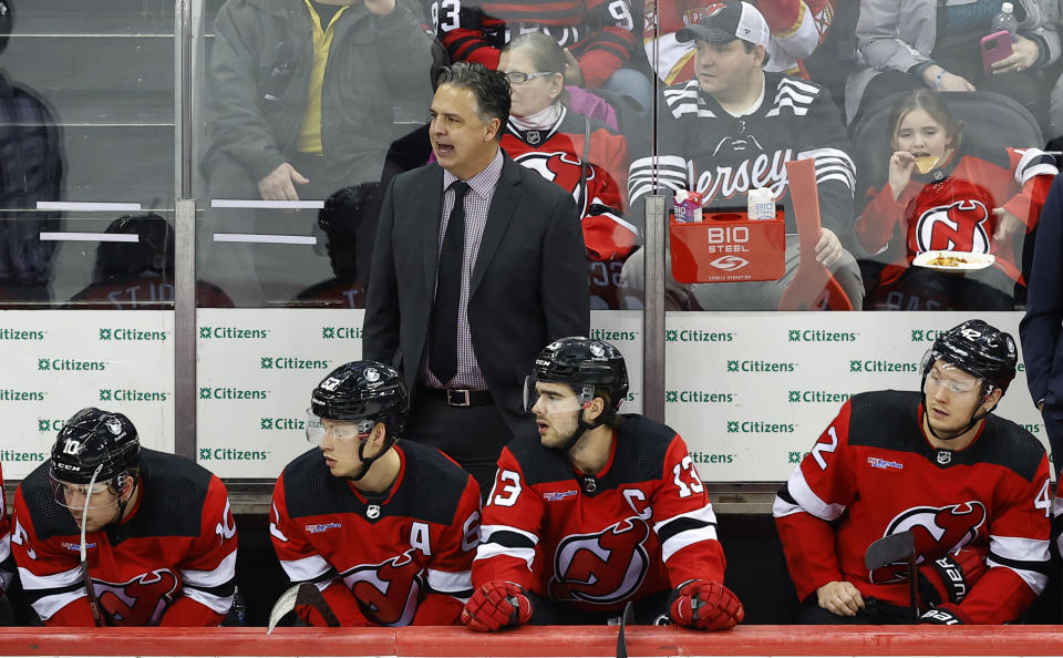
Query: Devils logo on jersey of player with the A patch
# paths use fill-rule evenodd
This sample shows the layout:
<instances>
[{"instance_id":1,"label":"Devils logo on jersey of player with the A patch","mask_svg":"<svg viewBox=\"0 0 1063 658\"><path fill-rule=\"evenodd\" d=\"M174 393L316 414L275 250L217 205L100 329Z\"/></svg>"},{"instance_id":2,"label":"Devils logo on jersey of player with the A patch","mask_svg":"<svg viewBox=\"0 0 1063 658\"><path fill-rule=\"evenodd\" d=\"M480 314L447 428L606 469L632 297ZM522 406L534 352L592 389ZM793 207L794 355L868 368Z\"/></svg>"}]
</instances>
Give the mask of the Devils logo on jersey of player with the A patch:
<instances>
[{"instance_id":1,"label":"Devils logo on jersey of player with the A patch","mask_svg":"<svg viewBox=\"0 0 1063 658\"><path fill-rule=\"evenodd\" d=\"M359 565L343 574L343 582L371 621L381 626L407 626L413 621L422 579L412 548L380 564Z\"/></svg>"}]
</instances>

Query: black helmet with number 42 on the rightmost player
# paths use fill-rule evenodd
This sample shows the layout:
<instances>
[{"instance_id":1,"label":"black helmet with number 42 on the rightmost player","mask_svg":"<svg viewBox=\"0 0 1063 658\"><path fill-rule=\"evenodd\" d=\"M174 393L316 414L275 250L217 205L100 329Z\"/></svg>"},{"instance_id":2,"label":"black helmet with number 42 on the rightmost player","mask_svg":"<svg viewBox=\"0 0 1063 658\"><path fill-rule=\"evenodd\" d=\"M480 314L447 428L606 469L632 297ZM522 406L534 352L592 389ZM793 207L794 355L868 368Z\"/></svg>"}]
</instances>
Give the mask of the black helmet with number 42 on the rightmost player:
<instances>
[{"instance_id":1,"label":"black helmet with number 42 on the rightmost player","mask_svg":"<svg viewBox=\"0 0 1063 658\"><path fill-rule=\"evenodd\" d=\"M985 382L984 394L994 388L1003 393L1015 378L1019 350L1010 333L982 320L966 322L938 335L922 359L922 383L938 359Z\"/></svg>"}]
</instances>

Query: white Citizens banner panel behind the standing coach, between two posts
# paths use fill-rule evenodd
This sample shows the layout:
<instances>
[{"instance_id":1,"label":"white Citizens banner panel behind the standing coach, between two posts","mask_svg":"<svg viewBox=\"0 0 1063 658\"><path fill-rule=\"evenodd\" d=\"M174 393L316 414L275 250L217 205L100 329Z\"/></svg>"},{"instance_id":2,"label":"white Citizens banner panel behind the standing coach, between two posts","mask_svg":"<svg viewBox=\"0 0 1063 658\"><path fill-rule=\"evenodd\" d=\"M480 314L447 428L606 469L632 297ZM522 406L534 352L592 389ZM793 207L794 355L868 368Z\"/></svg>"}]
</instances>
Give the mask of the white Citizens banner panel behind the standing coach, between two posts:
<instances>
[{"instance_id":1,"label":"white Citizens banner panel behind the standing coach, between two posts","mask_svg":"<svg viewBox=\"0 0 1063 658\"><path fill-rule=\"evenodd\" d=\"M642 315L592 311L591 337L625 354L642 410ZM221 477L276 477L310 450L310 391L332 369L362 356L360 309L199 309L197 460ZM545 346L544 346L545 347Z\"/></svg>"}]
</instances>

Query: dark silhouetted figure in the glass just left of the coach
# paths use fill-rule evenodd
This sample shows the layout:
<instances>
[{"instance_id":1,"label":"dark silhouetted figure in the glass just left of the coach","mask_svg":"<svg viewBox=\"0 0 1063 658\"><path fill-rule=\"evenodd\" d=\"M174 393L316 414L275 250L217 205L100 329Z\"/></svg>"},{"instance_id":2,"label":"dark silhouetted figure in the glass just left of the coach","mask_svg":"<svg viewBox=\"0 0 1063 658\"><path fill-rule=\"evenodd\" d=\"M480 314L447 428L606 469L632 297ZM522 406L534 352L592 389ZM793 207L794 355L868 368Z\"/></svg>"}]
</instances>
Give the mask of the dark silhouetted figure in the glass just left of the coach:
<instances>
[{"instance_id":1,"label":"dark silhouetted figure in the glass just left of the coach","mask_svg":"<svg viewBox=\"0 0 1063 658\"><path fill-rule=\"evenodd\" d=\"M324 199L318 213L318 228L324 232L326 249L333 278L300 292L296 299L320 308L365 308L365 284L358 278L358 232L367 213L375 209L380 186L375 183L344 187Z\"/></svg>"}]
</instances>

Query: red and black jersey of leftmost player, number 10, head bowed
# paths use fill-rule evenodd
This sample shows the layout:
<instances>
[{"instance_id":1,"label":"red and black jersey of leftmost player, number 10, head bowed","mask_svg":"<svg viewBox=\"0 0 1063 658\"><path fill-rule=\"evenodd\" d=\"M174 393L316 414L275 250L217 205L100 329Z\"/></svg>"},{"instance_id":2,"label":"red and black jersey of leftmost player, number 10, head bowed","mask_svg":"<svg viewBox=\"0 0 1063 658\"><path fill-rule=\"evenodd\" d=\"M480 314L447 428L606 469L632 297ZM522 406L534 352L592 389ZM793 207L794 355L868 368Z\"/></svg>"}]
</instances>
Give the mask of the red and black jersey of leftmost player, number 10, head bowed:
<instances>
[{"instance_id":1,"label":"red and black jersey of leftmost player, number 10, head bowed","mask_svg":"<svg viewBox=\"0 0 1063 658\"><path fill-rule=\"evenodd\" d=\"M109 624L217 626L236 590L236 522L225 485L179 456L141 450L140 498L121 524L87 533L89 574ZM11 548L49 626L93 626L81 533L52 497L49 464L14 494Z\"/></svg>"}]
</instances>

